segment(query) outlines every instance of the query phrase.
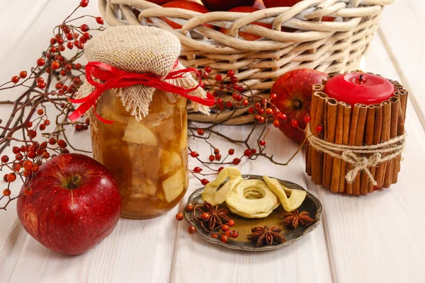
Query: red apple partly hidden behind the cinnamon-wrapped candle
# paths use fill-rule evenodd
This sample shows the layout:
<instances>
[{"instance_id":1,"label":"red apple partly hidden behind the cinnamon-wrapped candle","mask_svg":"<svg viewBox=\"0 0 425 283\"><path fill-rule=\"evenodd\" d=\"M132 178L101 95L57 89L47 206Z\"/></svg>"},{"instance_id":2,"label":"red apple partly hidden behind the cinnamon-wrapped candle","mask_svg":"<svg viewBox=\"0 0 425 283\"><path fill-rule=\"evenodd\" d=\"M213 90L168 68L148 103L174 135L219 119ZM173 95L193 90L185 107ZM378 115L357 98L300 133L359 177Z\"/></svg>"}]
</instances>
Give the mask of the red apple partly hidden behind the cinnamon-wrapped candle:
<instances>
[{"instance_id":1,"label":"red apple partly hidden behind the cinnamon-wrapped candle","mask_svg":"<svg viewBox=\"0 0 425 283\"><path fill-rule=\"evenodd\" d=\"M312 102L312 86L327 79L327 74L312 69L297 69L288 71L278 78L271 88L276 93L276 107L287 116L285 122L280 122L280 131L293 141L302 142L305 134L293 127L292 120L298 121L298 127L305 129L304 117L310 114Z\"/></svg>"}]
</instances>

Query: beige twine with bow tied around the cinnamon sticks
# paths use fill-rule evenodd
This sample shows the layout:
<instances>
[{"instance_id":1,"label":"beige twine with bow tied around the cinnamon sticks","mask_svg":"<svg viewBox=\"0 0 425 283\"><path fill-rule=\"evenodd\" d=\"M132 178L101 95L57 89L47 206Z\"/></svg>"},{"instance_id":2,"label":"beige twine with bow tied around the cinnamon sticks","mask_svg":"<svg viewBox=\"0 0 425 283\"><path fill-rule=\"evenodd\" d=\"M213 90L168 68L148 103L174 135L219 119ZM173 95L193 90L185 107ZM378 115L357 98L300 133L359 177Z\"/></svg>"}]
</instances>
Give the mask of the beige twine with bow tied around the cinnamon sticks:
<instances>
[{"instance_id":1,"label":"beige twine with bow tied around the cinnamon sticks","mask_svg":"<svg viewBox=\"0 0 425 283\"><path fill-rule=\"evenodd\" d=\"M370 173L369 168L376 167L380 163L389 161L392 158L402 154L404 150L404 134L399 137L390 139L389 141L382 142L381 144L373 144L370 146L348 146L344 144L333 144L319 137L315 137L310 129L310 125L307 124L306 137L310 142L310 145L317 151L322 151L325 154L329 154L334 158L340 158L353 166L351 171L346 173L346 181L353 183L356 175L363 171L365 172L370 182L373 185L378 185L375 178ZM370 155L370 156L369 156Z\"/></svg>"}]
</instances>

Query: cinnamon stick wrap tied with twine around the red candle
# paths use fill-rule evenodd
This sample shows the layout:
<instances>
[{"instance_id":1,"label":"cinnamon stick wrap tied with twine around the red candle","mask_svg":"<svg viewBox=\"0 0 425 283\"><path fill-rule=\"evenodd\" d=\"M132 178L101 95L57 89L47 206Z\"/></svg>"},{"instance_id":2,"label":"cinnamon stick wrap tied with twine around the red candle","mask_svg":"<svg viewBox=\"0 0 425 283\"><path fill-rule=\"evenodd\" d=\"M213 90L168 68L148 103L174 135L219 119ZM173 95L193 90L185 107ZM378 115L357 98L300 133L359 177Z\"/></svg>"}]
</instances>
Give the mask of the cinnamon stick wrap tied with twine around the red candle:
<instances>
[{"instance_id":1,"label":"cinnamon stick wrap tied with twine around the red candle","mask_svg":"<svg viewBox=\"0 0 425 283\"><path fill-rule=\"evenodd\" d=\"M325 83L312 89L311 121L306 129L310 134L307 175L332 192L352 195L366 195L397 183L408 92L392 81L395 93L389 100L351 108L329 98L323 92ZM322 132L316 131L319 125Z\"/></svg>"}]
</instances>

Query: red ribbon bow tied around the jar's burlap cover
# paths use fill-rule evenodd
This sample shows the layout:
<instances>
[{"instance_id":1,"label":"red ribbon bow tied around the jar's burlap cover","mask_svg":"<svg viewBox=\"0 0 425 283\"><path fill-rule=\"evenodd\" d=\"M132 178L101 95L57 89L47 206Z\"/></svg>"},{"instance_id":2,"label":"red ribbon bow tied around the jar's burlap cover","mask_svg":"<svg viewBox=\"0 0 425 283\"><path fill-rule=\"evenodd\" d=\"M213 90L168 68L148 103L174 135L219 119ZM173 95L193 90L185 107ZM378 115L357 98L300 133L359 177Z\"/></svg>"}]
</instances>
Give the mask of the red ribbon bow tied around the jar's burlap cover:
<instances>
[{"instance_id":1,"label":"red ribbon bow tied around the jar's burlap cover","mask_svg":"<svg viewBox=\"0 0 425 283\"><path fill-rule=\"evenodd\" d=\"M176 67L176 64L174 65ZM187 68L187 69L181 69L179 71L171 71L164 80L169 79L181 79L184 78L184 74L188 74L194 72L198 75L200 78L200 75L196 69L193 68ZM98 83L94 81L94 78L99 79L101 81L104 81L104 83ZM158 88L162 91L167 91L170 93L176 93L180 96L183 96L184 98L188 98L189 100L192 100L193 102L205 105L205 106L212 106L215 103L215 98L210 93L207 93L207 98L200 98L198 96L191 96L191 91L195 91L196 88L200 86L200 79L198 86L195 86L194 88L183 88L181 86L174 86L172 83L167 83L166 81L163 81L159 78L159 76L154 74L138 74L138 73L128 73L126 71L117 69L115 67L112 67L111 65L101 63L101 62L90 62L86 65L86 79L87 81L92 85L95 86L96 89L92 91L89 96L86 96L85 98L80 99L70 99L72 103L81 103L79 108L72 112L71 115L69 115L69 119L72 122L76 122L79 117L84 115L87 110L89 110L91 107L94 107L96 105L96 100L101 97L101 95L111 88L125 88L128 86L134 86L137 84L142 84L144 86L152 86L153 88ZM104 123L111 124L113 121L106 120L99 116L96 113L96 117L98 117L99 120L101 120Z\"/></svg>"}]
</instances>

